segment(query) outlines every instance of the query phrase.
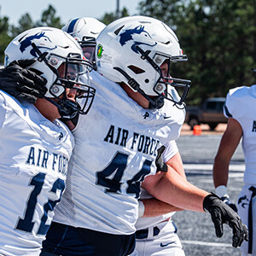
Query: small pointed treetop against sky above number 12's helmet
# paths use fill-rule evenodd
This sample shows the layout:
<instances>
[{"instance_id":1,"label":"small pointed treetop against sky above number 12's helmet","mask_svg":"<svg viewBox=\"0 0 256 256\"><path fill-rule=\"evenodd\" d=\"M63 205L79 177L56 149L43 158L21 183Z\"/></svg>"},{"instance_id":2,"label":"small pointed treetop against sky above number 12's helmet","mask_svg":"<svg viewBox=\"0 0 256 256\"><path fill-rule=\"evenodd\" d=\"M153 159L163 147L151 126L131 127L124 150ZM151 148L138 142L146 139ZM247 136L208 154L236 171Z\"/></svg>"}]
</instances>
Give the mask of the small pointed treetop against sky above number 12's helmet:
<instances>
[{"instance_id":1,"label":"small pointed treetop against sky above number 12's helmet","mask_svg":"<svg viewBox=\"0 0 256 256\"><path fill-rule=\"evenodd\" d=\"M55 16L55 14L55 8L49 4L48 9L44 10L42 18L36 23L36 26L52 26L61 28L64 25L61 23L61 18Z\"/></svg>"}]
</instances>

